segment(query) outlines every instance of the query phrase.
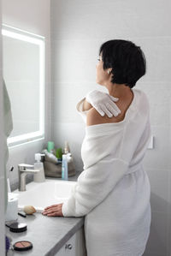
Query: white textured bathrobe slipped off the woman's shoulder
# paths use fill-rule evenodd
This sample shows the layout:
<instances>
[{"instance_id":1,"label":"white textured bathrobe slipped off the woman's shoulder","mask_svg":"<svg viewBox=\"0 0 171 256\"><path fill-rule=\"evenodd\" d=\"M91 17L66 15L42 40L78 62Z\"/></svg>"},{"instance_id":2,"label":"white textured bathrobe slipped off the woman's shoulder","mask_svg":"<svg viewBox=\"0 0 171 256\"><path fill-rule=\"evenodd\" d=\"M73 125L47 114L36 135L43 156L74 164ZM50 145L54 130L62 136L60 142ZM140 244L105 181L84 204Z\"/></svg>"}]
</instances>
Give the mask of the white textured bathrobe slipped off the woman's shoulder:
<instances>
[{"instance_id":1,"label":"white textured bathrobe slipped off the woman's shoulder","mask_svg":"<svg viewBox=\"0 0 171 256\"><path fill-rule=\"evenodd\" d=\"M83 102L77 107L84 117ZM138 89L133 89L123 121L85 127L84 171L62 205L62 213L64 217L85 216L88 256L144 253L151 219L150 182L143 168L149 142L149 103Z\"/></svg>"}]
</instances>

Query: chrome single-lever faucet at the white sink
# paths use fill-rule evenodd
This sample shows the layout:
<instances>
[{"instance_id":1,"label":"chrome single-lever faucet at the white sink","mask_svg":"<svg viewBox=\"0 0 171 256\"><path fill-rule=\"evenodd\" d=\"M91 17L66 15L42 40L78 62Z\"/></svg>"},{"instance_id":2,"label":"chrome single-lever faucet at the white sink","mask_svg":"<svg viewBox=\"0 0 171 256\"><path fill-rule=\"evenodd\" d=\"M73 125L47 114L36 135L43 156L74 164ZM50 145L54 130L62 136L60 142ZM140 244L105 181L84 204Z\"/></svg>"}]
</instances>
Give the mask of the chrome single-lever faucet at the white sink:
<instances>
[{"instance_id":1,"label":"chrome single-lever faucet at the white sink","mask_svg":"<svg viewBox=\"0 0 171 256\"><path fill-rule=\"evenodd\" d=\"M19 191L26 191L26 176L28 173L38 173L39 170L31 170L27 168L34 168L31 164L19 164L18 174L19 174Z\"/></svg>"}]
</instances>

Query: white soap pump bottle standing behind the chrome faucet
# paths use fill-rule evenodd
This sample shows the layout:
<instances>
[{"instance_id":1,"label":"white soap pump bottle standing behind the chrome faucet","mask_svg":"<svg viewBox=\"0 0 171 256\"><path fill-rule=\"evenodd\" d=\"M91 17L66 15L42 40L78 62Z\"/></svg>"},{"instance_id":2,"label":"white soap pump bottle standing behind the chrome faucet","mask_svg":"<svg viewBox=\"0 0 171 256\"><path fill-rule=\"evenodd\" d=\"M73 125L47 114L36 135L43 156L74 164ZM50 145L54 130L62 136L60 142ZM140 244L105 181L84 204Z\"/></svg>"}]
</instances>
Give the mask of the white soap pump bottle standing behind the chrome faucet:
<instances>
[{"instance_id":1,"label":"white soap pump bottle standing behind the chrome faucet","mask_svg":"<svg viewBox=\"0 0 171 256\"><path fill-rule=\"evenodd\" d=\"M35 154L36 162L34 163L34 169L39 171L34 174L34 182L45 182L44 164L41 162L41 156L44 156L44 154Z\"/></svg>"}]
</instances>

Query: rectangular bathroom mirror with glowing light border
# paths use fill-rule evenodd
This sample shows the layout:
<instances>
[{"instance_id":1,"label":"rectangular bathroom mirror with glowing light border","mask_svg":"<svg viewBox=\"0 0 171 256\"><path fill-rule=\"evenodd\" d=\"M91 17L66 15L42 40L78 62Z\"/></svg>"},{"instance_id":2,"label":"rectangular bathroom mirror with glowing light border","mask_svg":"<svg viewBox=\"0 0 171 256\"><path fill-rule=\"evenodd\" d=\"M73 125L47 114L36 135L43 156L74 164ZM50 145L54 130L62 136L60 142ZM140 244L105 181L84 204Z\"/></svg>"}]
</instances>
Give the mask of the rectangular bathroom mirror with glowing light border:
<instances>
[{"instance_id":1,"label":"rectangular bathroom mirror with glowing light border","mask_svg":"<svg viewBox=\"0 0 171 256\"><path fill-rule=\"evenodd\" d=\"M3 79L11 102L9 146L44 137L44 38L3 25Z\"/></svg>"}]
</instances>

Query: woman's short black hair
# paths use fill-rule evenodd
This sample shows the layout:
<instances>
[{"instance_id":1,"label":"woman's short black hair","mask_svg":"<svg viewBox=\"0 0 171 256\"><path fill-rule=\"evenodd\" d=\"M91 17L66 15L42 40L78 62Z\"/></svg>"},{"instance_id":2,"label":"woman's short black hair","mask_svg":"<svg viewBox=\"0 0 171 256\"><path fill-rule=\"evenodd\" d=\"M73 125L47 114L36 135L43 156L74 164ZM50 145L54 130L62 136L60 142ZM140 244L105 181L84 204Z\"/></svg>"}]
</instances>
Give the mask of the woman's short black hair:
<instances>
[{"instance_id":1,"label":"woman's short black hair","mask_svg":"<svg viewBox=\"0 0 171 256\"><path fill-rule=\"evenodd\" d=\"M112 68L112 83L125 84L130 88L146 71L144 52L131 41L115 39L100 46L103 69Z\"/></svg>"}]
</instances>

